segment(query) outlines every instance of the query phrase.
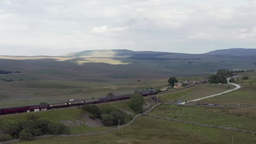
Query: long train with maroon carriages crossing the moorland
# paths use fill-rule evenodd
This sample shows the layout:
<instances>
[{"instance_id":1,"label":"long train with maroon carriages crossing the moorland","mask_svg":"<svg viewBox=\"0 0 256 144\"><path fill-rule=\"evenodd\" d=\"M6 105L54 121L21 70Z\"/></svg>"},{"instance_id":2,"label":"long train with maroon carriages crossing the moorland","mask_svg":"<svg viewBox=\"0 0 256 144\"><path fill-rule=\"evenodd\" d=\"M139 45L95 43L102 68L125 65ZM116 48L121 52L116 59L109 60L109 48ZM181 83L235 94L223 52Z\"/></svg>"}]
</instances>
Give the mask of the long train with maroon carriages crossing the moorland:
<instances>
[{"instance_id":1,"label":"long train with maroon carriages crossing the moorland","mask_svg":"<svg viewBox=\"0 0 256 144\"><path fill-rule=\"evenodd\" d=\"M140 94L143 96L147 96L147 95L158 94L158 91L142 92ZM130 98L131 98L131 94L127 94L127 95L119 95L119 96L115 96L115 97L104 97L104 98L88 99L88 100L65 101L65 102L54 103L54 104L8 107L8 108L0 109L0 115L7 115L10 113L21 113L21 112L46 111L48 109L59 109L61 107L107 103L110 101L124 100L124 99L130 99Z\"/></svg>"}]
</instances>

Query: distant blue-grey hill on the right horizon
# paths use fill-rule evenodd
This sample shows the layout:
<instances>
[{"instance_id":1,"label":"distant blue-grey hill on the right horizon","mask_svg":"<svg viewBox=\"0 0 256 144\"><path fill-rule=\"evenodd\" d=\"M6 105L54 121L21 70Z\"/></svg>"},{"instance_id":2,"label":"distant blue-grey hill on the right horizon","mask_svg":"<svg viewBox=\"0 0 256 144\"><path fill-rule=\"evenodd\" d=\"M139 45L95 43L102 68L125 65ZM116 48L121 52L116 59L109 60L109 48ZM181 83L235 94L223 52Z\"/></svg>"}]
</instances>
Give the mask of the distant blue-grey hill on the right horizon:
<instances>
[{"instance_id":1,"label":"distant blue-grey hill on the right horizon","mask_svg":"<svg viewBox=\"0 0 256 144\"><path fill-rule=\"evenodd\" d=\"M205 53L206 55L230 55L230 56L256 56L256 49L226 49L215 50Z\"/></svg>"}]
</instances>

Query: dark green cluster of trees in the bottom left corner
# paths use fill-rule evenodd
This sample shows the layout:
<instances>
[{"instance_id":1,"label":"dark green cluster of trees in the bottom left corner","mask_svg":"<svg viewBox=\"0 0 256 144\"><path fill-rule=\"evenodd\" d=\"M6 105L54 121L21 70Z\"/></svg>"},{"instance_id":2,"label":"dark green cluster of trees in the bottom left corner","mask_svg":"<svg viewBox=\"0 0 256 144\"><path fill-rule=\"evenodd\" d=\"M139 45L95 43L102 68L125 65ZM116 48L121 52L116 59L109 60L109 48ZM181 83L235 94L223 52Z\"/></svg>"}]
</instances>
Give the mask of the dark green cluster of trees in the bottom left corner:
<instances>
[{"instance_id":1,"label":"dark green cluster of trees in the bottom left corner","mask_svg":"<svg viewBox=\"0 0 256 144\"><path fill-rule=\"evenodd\" d=\"M38 115L31 115L27 120L14 121L5 119L0 123L2 135L1 141L12 139L32 140L34 136L45 134L69 134L69 128L61 123L53 123L47 119L42 119Z\"/></svg>"}]
</instances>

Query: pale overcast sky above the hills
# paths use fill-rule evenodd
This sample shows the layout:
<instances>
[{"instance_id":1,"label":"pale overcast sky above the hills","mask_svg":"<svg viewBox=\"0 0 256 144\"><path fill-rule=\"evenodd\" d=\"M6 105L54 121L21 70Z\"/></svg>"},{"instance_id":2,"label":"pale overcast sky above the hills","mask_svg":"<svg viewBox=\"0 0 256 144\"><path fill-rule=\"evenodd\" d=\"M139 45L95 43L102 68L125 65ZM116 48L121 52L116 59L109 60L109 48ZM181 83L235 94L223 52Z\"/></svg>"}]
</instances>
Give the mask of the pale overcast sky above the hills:
<instances>
[{"instance_id":1,"label":"pale overcast sky above the hills","mask_svg":"<svg viewBox=\"0 0 256 144\"><path fill-rule=\"evenodd\" d=\"M256 48L252 0L0 0L0 55Z\"/></svg>"}]
</instances>

